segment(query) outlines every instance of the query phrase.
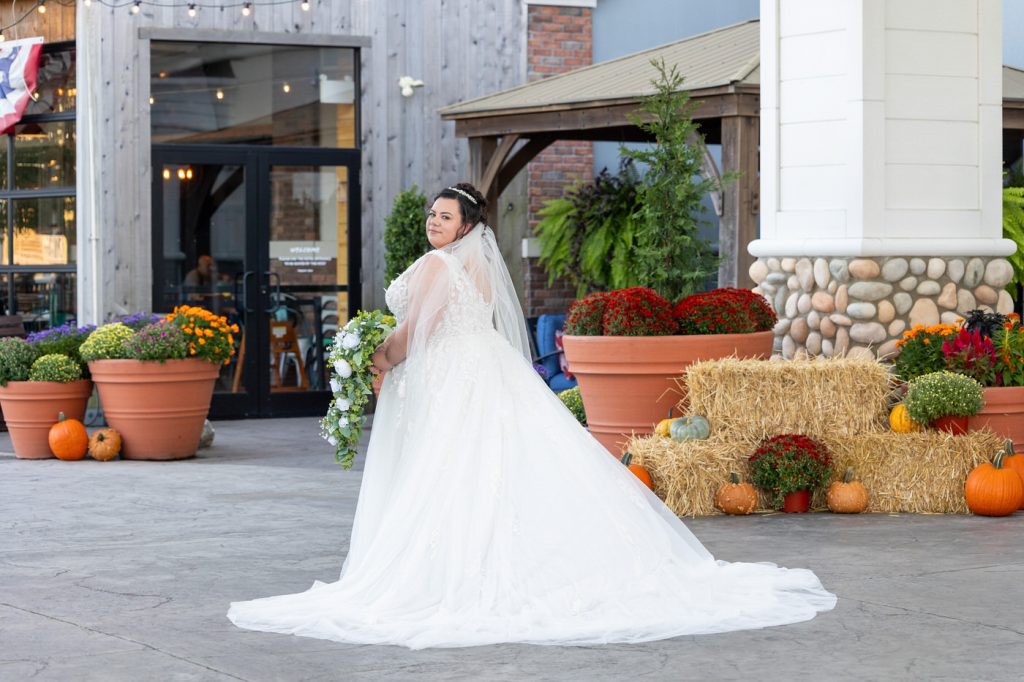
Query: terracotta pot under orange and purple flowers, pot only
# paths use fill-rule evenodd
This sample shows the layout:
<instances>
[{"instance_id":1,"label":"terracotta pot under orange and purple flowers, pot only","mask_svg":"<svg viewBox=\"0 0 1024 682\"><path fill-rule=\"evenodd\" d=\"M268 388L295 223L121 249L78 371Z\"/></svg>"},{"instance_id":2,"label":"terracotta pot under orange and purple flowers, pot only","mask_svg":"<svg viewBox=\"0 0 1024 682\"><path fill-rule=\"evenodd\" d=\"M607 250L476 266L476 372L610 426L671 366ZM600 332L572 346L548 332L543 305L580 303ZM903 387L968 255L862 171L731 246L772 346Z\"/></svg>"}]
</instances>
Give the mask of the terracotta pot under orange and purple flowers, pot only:
<instances>
[{"instance_id":1,"label":"terracotta pot under orange and purple flowers, pot only","mask_svg":"<svg viewBox=\"0 0 1024 682\"><path fill-rule=\"evenodd\" d=\"M195 457L220 368L195 357L166 363L94 360L106 423L121 433L126 460Z\"/></svg>"}]
</instances>

